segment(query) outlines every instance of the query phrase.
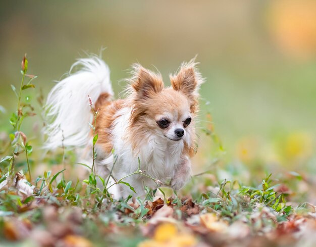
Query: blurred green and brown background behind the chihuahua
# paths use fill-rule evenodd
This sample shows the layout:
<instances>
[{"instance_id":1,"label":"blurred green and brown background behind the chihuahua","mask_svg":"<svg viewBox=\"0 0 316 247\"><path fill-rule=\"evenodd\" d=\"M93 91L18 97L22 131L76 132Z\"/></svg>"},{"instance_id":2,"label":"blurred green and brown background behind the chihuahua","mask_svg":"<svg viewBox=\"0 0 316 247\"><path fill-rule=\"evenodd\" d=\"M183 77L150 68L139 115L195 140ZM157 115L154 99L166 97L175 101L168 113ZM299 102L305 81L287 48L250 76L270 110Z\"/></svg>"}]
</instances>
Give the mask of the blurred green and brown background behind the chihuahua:
<instances>
[{"instance_id":1,"label":"blurred green and brown background behind the chihuahua","mask_svg":"<svg viewBox=\"0 0 316 247\"><path fill-rule=\"evenodd\" d=\"M19 87L25 53L28 73L38 76L23 99L38 111L23 127L32 136L42 125L39 93L46 96L76 58L101 47L116 93L136 61L159 69L168 84L170 72L198 55L207 79L196 171L226 164L219 178L295 171L312 181L316 1L2 1L0 131L12 130L10 85Z\"/></svg>"}]
</instances>

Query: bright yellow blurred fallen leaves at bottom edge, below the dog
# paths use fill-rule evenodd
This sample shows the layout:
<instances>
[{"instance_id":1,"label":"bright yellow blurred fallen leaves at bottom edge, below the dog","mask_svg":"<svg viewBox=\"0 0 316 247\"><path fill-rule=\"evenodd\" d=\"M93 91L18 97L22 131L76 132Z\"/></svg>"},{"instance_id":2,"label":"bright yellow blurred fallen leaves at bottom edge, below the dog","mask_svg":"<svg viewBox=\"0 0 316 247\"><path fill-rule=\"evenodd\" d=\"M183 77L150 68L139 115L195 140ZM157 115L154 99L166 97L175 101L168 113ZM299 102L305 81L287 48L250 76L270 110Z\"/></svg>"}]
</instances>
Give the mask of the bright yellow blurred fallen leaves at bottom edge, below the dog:
<instances>
[{"instance_id":1,"label":"bright yellow blurred fallen leaves at bottom edge, below the dog","mask_svg":"<svg viewBox=\"0 0 316 247\"><path fill-rule=\"evenodd\" d=\"M196 243L192 234L180 233L176 225L164 223L157 226L153 239L142 241L138 247L192 247Z\"/></svg>"}]
</instances>

